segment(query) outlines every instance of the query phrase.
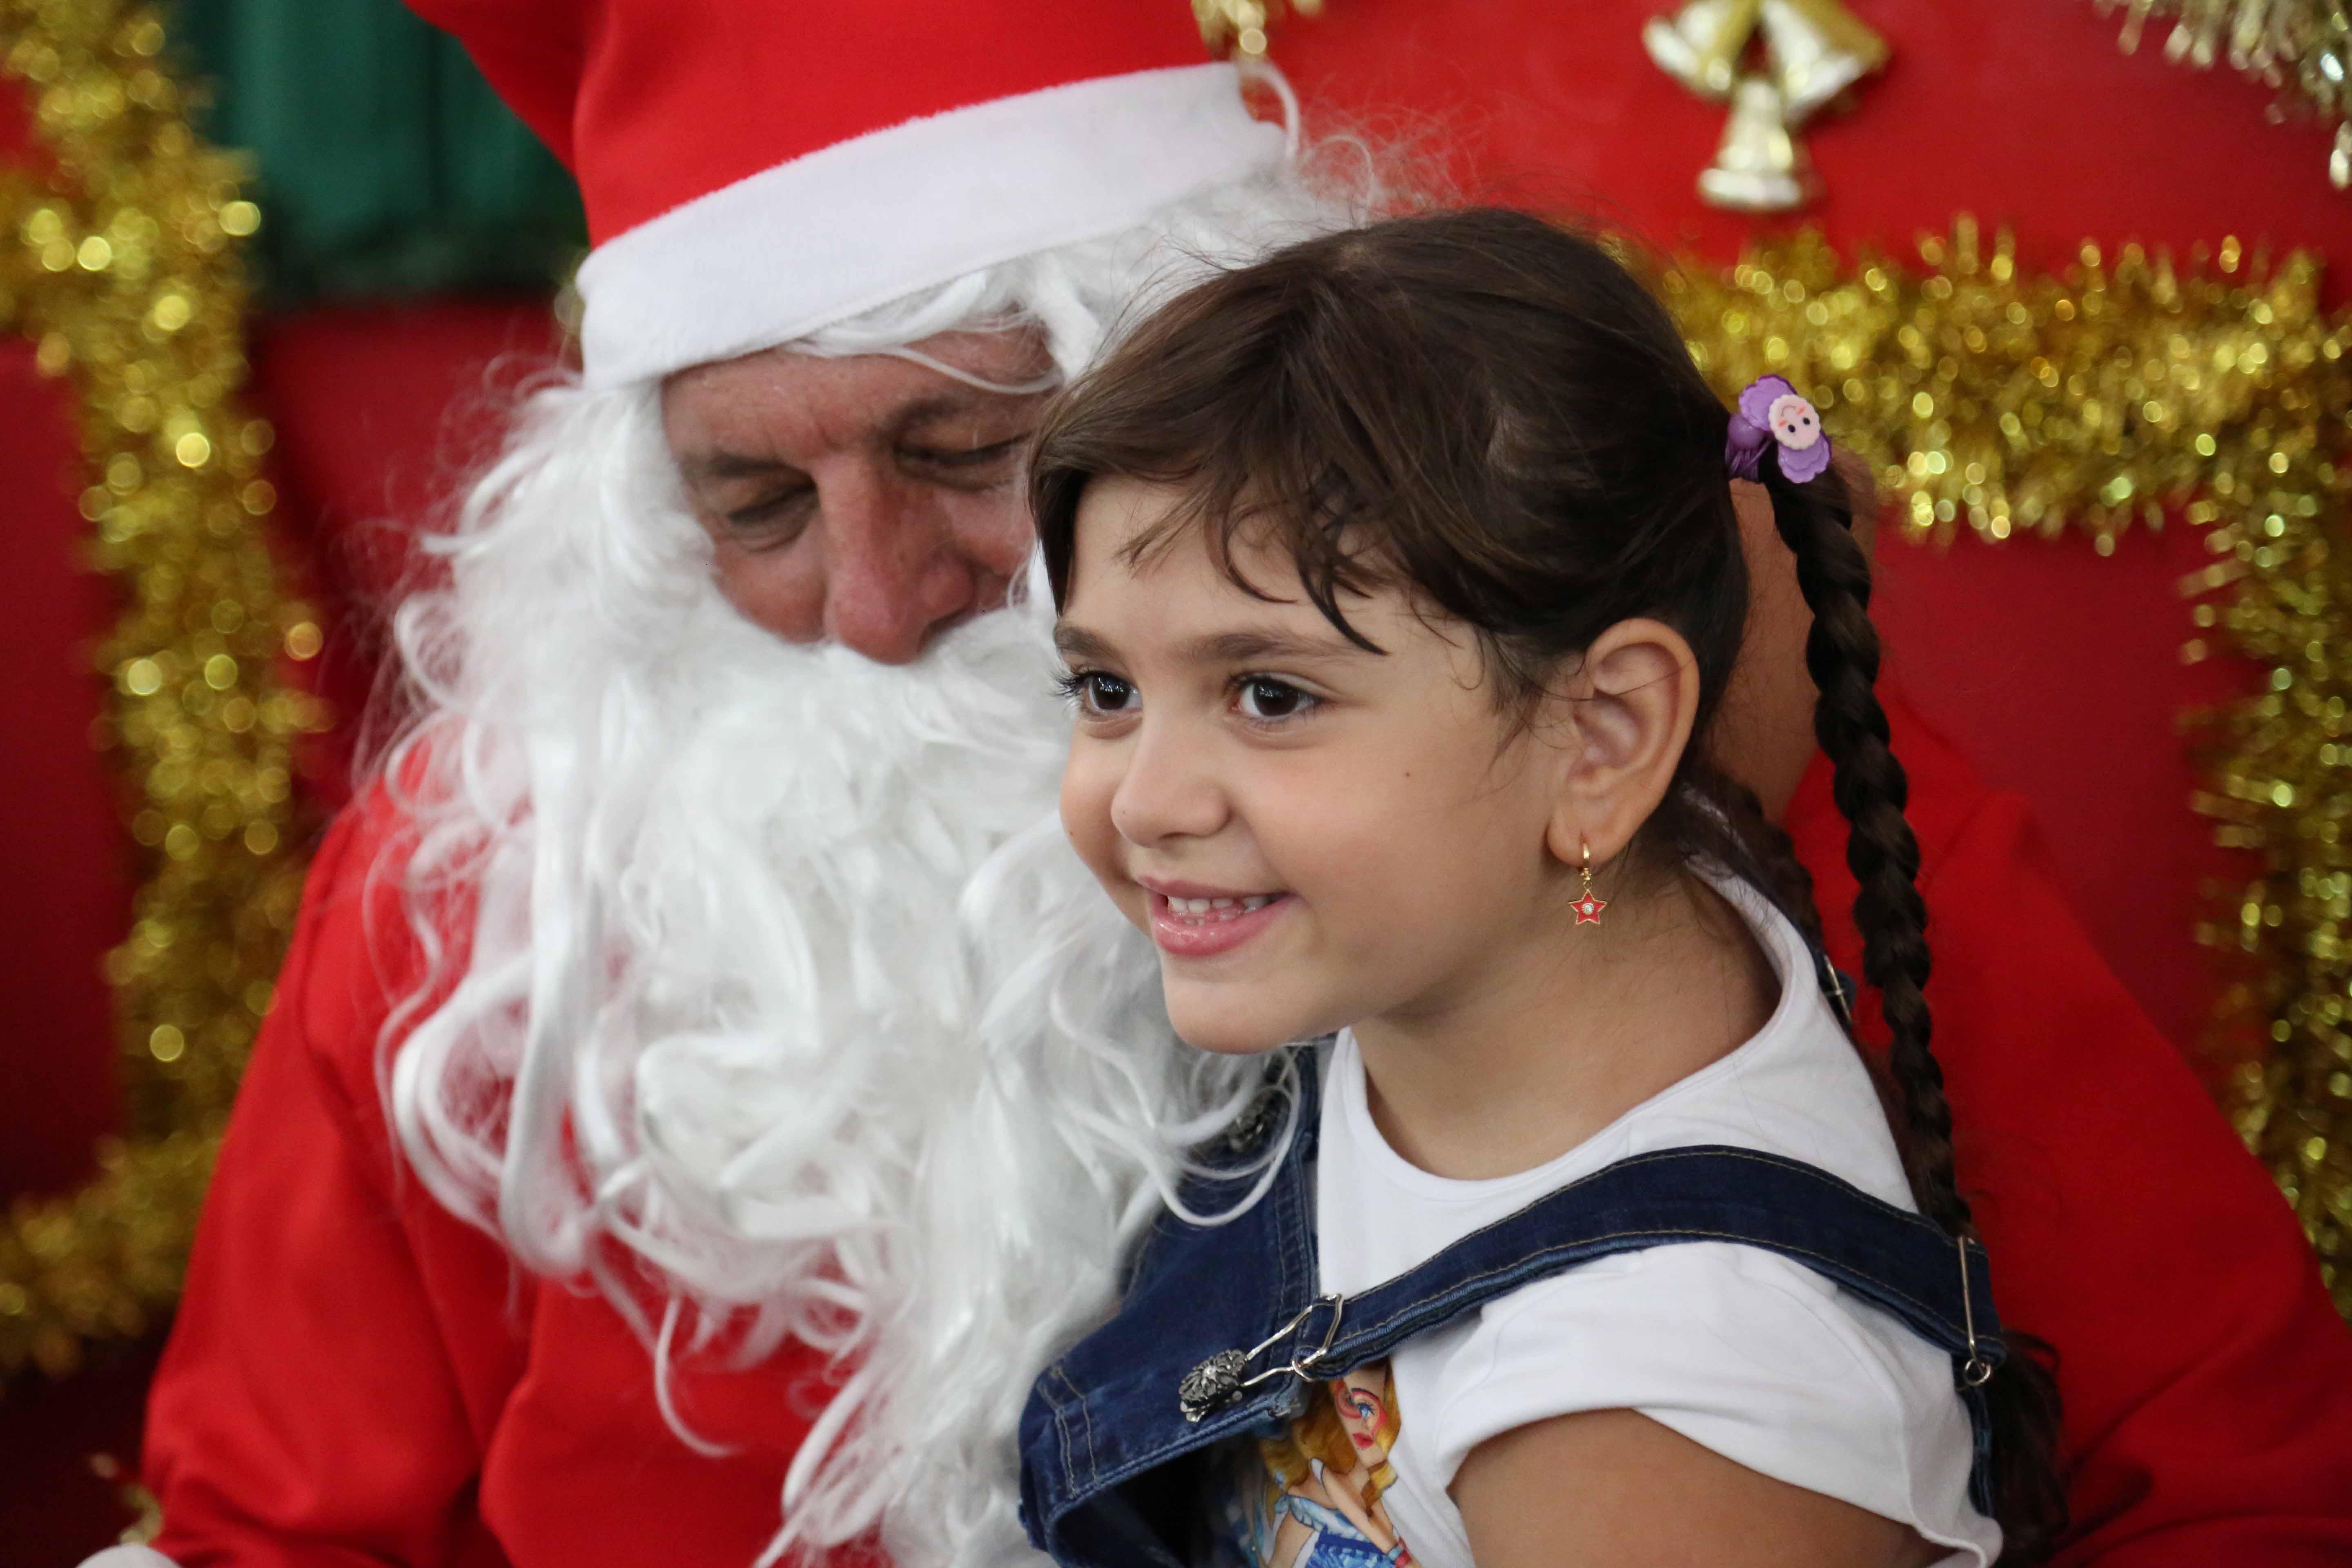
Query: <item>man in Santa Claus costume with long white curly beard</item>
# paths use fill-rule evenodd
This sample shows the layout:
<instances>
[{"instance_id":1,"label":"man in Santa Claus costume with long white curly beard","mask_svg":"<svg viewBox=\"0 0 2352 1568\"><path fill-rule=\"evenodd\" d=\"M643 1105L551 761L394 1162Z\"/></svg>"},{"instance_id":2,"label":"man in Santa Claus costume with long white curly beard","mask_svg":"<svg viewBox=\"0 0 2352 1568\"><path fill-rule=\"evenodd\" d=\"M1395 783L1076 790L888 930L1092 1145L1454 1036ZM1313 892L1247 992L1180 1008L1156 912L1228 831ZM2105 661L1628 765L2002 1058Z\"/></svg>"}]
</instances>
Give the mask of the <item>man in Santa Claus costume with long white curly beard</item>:
<instances>
[{"instance_id":1,"label":"man in Santa Claus costume with long white curly beard","mask_svg":"<svg viewBox=\"0 0 2352 1568\"><path fill-rule=\"evenodd\" d=\"M1171 1041L1061 842L1021 447L1124 317L1348 221L1367 165L1317 179L1176 0L419 9L581 179L581 369L400 611L414 703L318 856L158 1375L155 1549L1030 1561L1023 1394L1261 1079ZM1762 604L1733 764L1835 905L1802 604ZM1898 748L1955 1095L2053 1086L1964 1178L2079 1227L1992 1246L2089 1410L2086 1549L2343 1552L2352 1342L2288 1215L2013 811ZM2037 1110L2058 1056L2190 1213L2143 1225L2143 1154Z\"/></svg>"}]
</instances>

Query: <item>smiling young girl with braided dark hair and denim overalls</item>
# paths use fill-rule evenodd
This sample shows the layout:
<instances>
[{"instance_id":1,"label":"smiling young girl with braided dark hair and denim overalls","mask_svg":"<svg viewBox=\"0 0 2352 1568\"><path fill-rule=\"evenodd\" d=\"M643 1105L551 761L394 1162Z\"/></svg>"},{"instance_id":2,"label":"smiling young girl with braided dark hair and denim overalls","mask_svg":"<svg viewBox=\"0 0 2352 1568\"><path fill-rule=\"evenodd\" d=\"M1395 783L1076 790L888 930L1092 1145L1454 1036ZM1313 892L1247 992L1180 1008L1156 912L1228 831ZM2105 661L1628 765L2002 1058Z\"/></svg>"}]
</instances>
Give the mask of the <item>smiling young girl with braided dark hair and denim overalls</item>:
<instances>
[{"instance_id":1,"label":"smiling young girl with braided dark hair and denim overalls","mask_svg":"<svg viewBox=\"0 0 2352 1568\"><path fill-rule=\"evenodd\" d=\"M1294 1103L1040 1378L1023 1512L1058 1561L2049 1544L2056 1396L1952 1173L1828 458L1785 381L1726 416L1616 261L1508 212L1216 277L1047 416L1063 823L1176 1030L1275 1051ZM1891 1114L1804 872L1710 762L1743 482L1813 609ZM1296 1458L1350 1410L1359 1462Z\"/></svg>"}]
</instances>

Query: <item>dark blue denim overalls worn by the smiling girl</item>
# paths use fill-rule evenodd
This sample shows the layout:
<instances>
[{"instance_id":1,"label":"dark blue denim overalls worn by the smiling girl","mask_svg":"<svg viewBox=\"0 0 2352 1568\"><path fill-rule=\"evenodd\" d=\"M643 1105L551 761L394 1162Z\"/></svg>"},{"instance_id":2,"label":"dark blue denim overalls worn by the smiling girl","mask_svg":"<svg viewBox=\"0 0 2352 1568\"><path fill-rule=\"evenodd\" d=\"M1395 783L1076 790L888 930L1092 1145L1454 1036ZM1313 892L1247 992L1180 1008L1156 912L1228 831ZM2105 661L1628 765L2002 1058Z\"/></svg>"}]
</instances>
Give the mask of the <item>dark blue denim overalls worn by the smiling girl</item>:
<instances>
[{"instance_id":1,"label":"dark blue denim overalls worn by the smiling girl","mask_svg":"<svg viewBox=\"0 0 2352 1568\"><path fill-rule=\"evenodd\" d=\"M1849 992L1828 964L1820 971L1844 1011ZM1604 1166L1371 1291L1319 1295L1317 1060L1312 1048L1294 1048L1291 1060L1296 1131L1258 1204L1209 1227L1162 1215L1120 1314L1030 1389L1021 1521L1063 1568L1188 1568L1204 1533L1207 1460L1225 1439L1279 1429L1312 1382L1378 1361L1517 1286L1677 1241L1780 1253L1950 1352L1976 1429L1971 1500L1992 1512L1983 1385L2006 1352L1985 1248L1973 1239L1957 1241L1795 1159L1675 1147ZM1247 1194L1279 1121L1244 1117L1254 1126L1228 1140L1230 1164L1190 1182L1188 1206L1221 1213Z\"/></svg>"}]
</instances>

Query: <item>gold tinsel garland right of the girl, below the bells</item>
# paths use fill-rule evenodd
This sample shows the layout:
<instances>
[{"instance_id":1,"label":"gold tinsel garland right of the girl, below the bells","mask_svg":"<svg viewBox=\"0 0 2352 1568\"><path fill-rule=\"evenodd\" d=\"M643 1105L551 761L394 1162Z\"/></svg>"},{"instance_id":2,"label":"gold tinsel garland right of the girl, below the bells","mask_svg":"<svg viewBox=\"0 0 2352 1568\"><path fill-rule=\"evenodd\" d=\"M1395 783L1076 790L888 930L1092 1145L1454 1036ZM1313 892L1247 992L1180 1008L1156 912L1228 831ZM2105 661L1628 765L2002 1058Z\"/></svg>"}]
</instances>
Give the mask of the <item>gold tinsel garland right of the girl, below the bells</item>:
<instances>
[{"instance_id":1,"label":"gold tinsel garland right of the girl, below the bells","mask_svg":"<svg viewBox=\"0 0 2352 1568\"><path fill-rule=\"evenodd\" d=\"M1922 261L1851 268L1799 237L1665 287L1710 378L1806 390L1915 536L2077 527L2105 555L2166 508L2211 527L2190 618L2265 682L2206 726L2197 809L2258 875L2199 936L2246 959L2218 1032L2267 1046L2237 1072L2239 1131L2352 1314L2352 313L2321 313L2312 259L2237 240L2187 268L2084 244L2046 277L1962 219Z\"/></svg>"}]
</instances>

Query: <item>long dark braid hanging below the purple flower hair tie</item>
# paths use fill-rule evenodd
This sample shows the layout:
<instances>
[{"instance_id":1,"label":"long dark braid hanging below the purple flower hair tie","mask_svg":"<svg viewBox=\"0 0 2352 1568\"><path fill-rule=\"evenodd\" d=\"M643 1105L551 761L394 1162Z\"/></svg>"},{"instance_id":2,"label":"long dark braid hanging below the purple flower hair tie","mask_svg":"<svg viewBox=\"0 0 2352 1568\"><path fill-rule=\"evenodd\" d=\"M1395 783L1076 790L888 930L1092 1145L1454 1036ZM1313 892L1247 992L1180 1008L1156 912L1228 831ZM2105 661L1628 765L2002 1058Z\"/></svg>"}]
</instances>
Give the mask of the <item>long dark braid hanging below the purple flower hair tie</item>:
<instances>
[{"instance_id":1,"label":"long dark braid hanging below the purple flower hair tie","mask_svg":"<svg viewBox=\"0 0 2352 1568\"><path fill-rule=\"evenodd\" d=\"M1830 757L1830 795L1846 818L1846 865L1860 891L1853 924L1863 936L1863 978L1879 990L1891 1037L1886 1070L1896 1086L1896 1143L1919 1213L1947 1232L1971 1229L1952 1161L1952 1107L1931 1048L1926 1006L1926 903L1919 898L1919 839L1903 816L1910 783L1886 743L1877 698L1879 632L1870 623L1870 557L1853 538L1853 503L1837 470L1790 482L1778 458L1762 463L1773 524L1797 557L1797 585L1813 611L1804 665L1820 693L1813 738ZM2004 1563L2042 1561L2065 1530L2058 1481L2058 1380L2042 1340L2006 1333L2009 1356L1985 1385L1992 1415L1992 1502L2006 1537Z\"/></svg>"}]
</instances>

